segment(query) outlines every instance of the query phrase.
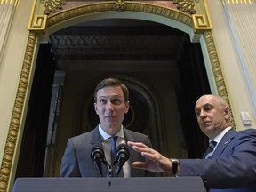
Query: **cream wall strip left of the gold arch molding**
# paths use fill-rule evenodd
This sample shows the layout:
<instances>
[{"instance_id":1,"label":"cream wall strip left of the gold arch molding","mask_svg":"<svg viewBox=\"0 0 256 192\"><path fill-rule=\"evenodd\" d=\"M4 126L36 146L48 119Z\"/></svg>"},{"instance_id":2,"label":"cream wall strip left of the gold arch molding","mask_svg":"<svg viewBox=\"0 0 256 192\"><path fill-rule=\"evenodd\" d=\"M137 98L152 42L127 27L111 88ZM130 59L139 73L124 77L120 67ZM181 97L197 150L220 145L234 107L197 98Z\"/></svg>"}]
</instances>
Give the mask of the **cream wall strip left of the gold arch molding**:
<instances>
[{"instance_id":1,"label":"cream wall strip left of the gold arch molding","mask_svg":"<svg viewBox=\"0 0 256 192\"><path fill-rule=\"evenodd\" d=\"M14 1L11 1L14 2ZM4 1L3 4L10 2ZM2 4L2 5L3 5ZM0 163L4 156L5 142L12 118L13 105L20 80L26 45L28 20L33 0L20 0L13 15L10 31L0 60ZM1 6L2 6L1 5ZM4 6L4 5L3 5ZM6 15L0 14L1 19Z\"/></svg>"}]
</instances>

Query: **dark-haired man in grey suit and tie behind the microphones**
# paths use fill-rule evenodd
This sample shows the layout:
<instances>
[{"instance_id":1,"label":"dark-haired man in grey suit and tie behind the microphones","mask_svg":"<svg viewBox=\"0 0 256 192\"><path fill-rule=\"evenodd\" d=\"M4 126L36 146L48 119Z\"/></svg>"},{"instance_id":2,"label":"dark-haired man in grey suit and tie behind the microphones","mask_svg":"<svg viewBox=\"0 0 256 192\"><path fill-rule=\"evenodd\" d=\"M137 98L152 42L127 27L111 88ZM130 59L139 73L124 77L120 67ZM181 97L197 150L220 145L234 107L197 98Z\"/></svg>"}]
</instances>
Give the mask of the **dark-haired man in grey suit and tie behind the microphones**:
<instances>
[{"instance_id":1,"label":"dark-haired man in grey suit and tie behind the microphones","mask_svg":"<svg viewBox=\"0 0 256 192\"><path fill-rule=\"evenodd\" d=\"M132 132L122 125L124 115L128 112L129 91L127 87L116 78L104 79L97 85L94 91L94 108L100 118L98 124L91 132L68 139L65 154L62 157L60 177L108 177L116 176L110 172L108 165L115 162L111 159L111 137L117 136L116 146L126 144L127 141L142 142L152 147L147 135L139 132ZM106 164L100 164L102 172L92 161L92 150L100 147L106 157ZM145 161L140 153L128 148L130 158L123 165L124 177L145 177L154 176L154 172L138 170L132 167L134 161ZM111 168L118 164L112 165Z\"/></svg>"}]
</instances>

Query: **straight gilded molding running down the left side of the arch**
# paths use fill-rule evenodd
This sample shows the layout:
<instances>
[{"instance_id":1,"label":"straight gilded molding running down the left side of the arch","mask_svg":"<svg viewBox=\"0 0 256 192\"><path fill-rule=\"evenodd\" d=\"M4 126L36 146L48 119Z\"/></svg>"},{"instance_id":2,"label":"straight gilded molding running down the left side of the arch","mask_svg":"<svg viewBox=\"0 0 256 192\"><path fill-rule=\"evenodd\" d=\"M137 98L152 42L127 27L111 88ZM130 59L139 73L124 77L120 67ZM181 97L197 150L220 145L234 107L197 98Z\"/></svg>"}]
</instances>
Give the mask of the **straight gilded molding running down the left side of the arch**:
<instances>
[{"instance_id":1,"label":"straight gilded molding running down the left side of the arch","mask_svg":"<svg viewBox=\"0 0 256 192\"><path fill-rule=\"evenodd\" d=\"M13 156L17 148L17 137L20 132L20 120L24 110L24 102L28 91L28 78L36 44L36 34L31 33L28 36L28 44L23 60L23 66L20 74L20 82L18 85L17 95L12 111L12 120L4 148L4 158L1 164L0 191L4 192L8 189L10 173L12 170Z\"/></svg>"}]
</instances>

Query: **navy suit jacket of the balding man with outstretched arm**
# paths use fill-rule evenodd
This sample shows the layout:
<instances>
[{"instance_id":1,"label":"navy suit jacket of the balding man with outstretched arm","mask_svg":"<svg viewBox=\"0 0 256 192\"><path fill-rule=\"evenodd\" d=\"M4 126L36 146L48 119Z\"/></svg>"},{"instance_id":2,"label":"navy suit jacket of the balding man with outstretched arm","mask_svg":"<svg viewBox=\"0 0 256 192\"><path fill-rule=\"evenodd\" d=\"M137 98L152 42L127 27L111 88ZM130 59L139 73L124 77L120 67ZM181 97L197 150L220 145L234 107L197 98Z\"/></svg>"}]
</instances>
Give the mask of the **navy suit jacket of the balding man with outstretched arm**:
<instances>
[{"instance_id":1,"label":"navy suit jacket of the balding man with outstretched arm","mask_svg":"<svg viewBox=\"0 0 256 192\"><path fill-rule=\"evenodd\" d=\"M253 188L252 191L256 191L256 169L252 169L256 167L255 129L229 130L212 156L211 159L180 159L178 175L201 176L208 188L238 188L230 191Z\"/></svg>"}]
</instances>

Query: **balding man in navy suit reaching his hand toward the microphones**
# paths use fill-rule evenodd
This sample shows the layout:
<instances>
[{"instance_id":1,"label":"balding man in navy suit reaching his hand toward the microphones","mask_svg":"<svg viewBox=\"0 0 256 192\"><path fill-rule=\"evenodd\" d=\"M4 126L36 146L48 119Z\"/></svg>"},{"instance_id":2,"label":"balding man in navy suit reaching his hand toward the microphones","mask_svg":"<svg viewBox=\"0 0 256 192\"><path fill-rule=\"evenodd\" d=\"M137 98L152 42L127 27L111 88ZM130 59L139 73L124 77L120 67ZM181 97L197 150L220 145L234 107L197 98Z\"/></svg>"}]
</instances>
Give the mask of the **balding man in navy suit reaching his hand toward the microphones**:
<instances>
[{"instance_id":1,"label":"balding man in navy suit reaching his hand toward the microphones","mask_svg":"<svg viewBox=\"0 0 256 192\"><path fill-rule=\"evenodd\" d=\"M202 132L215 142L204 159L167 158L142 143L128 142L146 158L132 165L152 172L200 176L211 192L255 192L256 130L236 132L230 124L228 103L220 96L203 95L196 101L195 112Z\"/></svg>"}]
</instances>

